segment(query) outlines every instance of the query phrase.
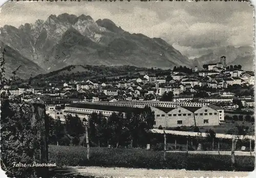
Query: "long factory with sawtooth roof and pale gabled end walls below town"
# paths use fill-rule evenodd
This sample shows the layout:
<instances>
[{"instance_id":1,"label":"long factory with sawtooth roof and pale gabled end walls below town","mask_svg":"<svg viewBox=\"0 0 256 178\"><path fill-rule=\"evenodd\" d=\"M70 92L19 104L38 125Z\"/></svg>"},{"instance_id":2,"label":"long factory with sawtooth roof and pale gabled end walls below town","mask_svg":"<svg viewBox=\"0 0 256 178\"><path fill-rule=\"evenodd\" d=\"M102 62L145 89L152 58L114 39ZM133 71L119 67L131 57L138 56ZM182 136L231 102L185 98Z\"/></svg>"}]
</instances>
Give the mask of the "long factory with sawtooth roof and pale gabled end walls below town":
<instances>
[{"instance_id":1,"label":"long factory with sawtooth roof and pale gabled end walls below town","mask_svg":"<svg viewBox=\"0 0 256 178\"><path fill-rule=\"evenodd\" d=\"M110 117L112 113L133 112L137 108L150 106L155 114L154 128L177 126L215 126L224 121L224 109L209 103L168 102L168 101L74 101L67 105L64 115L89 118L92 113Z\"/></svg>"}]
</instances>

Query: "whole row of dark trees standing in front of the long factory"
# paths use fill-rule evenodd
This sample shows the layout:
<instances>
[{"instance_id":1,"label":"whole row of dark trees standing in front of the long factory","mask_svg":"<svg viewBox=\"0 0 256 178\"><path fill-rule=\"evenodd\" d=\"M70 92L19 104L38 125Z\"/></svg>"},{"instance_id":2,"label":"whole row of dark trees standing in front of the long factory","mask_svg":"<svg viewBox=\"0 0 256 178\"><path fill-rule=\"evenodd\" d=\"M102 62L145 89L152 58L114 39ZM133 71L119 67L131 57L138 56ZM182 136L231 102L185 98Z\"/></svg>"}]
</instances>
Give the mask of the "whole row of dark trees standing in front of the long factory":
<instances>
[{"instance_id":1,"label":"whole row of dark trees standing in front of the long factory","mask_svg":"<svg viewBox=\"0 0 256 178\"><path fill-rule=\"evenodd\" d=\"M92 113L88 120L77 115L68 115L65 123L60 119L50 119L50 144L84 145L85 129L88 128L90 146L98 147L144 147L148 142L148 131L153 128L155 116L151 108L135 108L125 114L112 113L105 117Z\"/></svg>"}]
</instances>

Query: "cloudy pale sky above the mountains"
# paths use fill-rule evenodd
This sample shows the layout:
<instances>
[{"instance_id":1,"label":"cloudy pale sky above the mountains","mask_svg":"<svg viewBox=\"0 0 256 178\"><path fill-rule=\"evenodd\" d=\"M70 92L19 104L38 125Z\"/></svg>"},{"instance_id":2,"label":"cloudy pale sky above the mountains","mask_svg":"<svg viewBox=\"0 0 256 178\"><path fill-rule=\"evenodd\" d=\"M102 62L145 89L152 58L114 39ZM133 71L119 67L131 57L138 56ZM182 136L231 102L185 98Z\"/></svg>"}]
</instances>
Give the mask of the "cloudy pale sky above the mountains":
<instances>
[{"instance_id":1,"label":"cloudy pale sky above the mountains","mask_svg":"<svg viewBox=\"0 0 256 178\"><path fill-rule=\"evenodd\" d=\"M253 7L247 2L8 2L0 26L62 13L109 18L130 33L161 37L190 58L219 46L253 44Z\"/></svg>"}]
</instances>

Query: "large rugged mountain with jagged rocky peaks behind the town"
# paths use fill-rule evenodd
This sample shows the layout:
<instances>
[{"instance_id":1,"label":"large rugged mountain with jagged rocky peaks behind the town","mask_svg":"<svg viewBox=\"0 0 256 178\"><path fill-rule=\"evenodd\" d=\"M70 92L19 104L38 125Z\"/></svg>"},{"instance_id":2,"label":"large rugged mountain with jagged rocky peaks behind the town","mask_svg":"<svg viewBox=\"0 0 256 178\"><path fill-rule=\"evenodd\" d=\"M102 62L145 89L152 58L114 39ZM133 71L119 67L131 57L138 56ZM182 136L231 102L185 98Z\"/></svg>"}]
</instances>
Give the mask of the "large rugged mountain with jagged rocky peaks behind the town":
<instances>
[{"instance_id":1,"label":"large rugged mountain with jagged rocky peaks behind the town","mask_svg":"<svg viewBox=\"0 0 256 178\"><path fill-rule=\"evenodd\" d=\"M0 31L0 41L47 72L68 65L191 67L191 61L163 39L130 34L110 19L64 13Z\"/></svg>"}]
</instances>

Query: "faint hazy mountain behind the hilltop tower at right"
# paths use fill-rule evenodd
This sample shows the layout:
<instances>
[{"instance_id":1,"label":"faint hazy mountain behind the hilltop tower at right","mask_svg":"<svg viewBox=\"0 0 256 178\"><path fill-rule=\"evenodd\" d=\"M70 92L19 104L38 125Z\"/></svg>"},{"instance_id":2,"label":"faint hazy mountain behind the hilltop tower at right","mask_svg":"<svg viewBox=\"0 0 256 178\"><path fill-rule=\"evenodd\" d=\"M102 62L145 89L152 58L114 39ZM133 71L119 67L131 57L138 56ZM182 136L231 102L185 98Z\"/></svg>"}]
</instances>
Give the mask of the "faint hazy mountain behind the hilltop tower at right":
<instances>
[{"instance_id":1,"label":"faint hazy mountain behind the hilltop tower at right","mask_svg":"<svg viewBox=\"0 0 256 178\"><path fill-rule=\"evenodd\" d=\"M227 65L241 64L242 69L252 71L254 59L253 51L254 49L250 46L238 48L233 46L219 47L206 55L190 60L193 62L193 66L198 66L199 69L202 69L203 64L220 62L220 57L226 56Z\"/></svg>"}]
</instances>

